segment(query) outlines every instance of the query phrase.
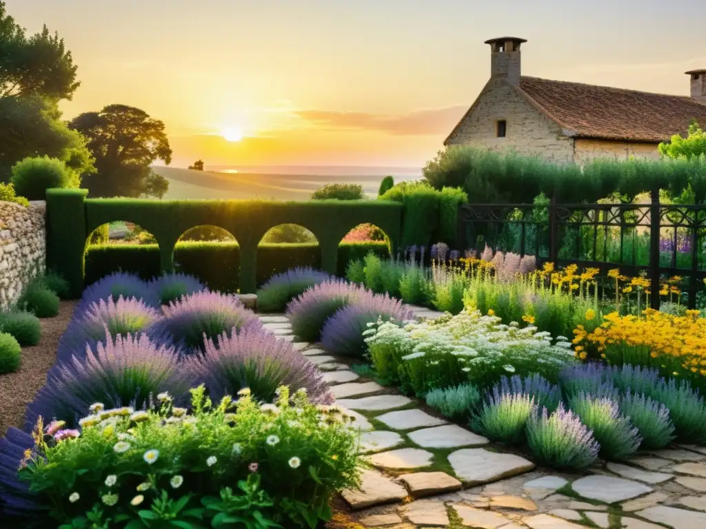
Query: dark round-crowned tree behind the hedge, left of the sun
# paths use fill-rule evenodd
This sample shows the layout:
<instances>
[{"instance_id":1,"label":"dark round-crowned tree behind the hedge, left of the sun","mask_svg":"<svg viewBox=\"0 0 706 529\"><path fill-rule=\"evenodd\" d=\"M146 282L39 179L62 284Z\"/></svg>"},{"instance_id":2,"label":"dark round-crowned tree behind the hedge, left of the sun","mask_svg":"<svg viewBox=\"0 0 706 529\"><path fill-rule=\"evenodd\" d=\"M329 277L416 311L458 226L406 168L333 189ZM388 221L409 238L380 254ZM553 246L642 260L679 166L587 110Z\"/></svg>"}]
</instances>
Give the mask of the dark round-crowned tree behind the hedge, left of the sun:
<instances>
[{"instance_id":1,"label":"dark round-crowned tree behind the hedge, left of the sun","mask_svg":"<svg viewBox=\"0 0 706 529\"><path fill-rule=\"evenodd\" d=\"M111 104L100 112L85 112L69 126L88 139L97 174L82 186L95 197L162 197L169 182L150 169L157 159L172 162L164 123L145 111Z\"/></svg>"}]
</instances>

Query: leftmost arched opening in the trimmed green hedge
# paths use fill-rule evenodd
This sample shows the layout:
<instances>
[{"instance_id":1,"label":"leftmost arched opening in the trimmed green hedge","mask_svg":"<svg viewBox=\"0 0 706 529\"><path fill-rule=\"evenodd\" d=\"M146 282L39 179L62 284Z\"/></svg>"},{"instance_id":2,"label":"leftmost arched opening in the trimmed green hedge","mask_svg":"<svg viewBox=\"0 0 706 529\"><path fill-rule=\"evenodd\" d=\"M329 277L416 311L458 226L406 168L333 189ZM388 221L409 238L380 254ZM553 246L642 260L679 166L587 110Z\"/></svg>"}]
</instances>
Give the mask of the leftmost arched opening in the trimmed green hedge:
<instances>
[{"instance_id":1,"label":"leftmost arched opening in the trimmed green hedge","mask_svg":"<svg viewBox=\"0 0 706 529\"><path fill-rule=\"evenodd\" d=\"M85 241L83 282L92 284L113 272L148 280L160 275L160 245L150 231L131 221L101 224Z\"/></svg>"}]
</instances>

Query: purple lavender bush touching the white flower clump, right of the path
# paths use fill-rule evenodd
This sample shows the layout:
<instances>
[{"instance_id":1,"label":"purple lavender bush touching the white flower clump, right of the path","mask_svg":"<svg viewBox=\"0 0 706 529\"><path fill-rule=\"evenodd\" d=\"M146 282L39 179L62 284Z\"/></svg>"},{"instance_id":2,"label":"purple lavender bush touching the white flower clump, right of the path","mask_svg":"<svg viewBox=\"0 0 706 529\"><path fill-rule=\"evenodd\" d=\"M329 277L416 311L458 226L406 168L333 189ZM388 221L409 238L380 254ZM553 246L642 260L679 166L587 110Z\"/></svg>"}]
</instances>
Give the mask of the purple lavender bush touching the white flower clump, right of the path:
<instances>
[{"instance_id":1,"label":"purple lavender bush touching the white flower clump, right of the path","mask_svg":"<svg viewBox=\"0 0 706 529\"><path fill-rule=\"evenodd\" d=\"M402 301L385 294L364 292L355 301L338 309L326 320L321 330L321 343L333 353L362 356L367 351L365 336L368 324L375 322L405 322L412 320L412 309Z\"/></svg>"}]
</instances>

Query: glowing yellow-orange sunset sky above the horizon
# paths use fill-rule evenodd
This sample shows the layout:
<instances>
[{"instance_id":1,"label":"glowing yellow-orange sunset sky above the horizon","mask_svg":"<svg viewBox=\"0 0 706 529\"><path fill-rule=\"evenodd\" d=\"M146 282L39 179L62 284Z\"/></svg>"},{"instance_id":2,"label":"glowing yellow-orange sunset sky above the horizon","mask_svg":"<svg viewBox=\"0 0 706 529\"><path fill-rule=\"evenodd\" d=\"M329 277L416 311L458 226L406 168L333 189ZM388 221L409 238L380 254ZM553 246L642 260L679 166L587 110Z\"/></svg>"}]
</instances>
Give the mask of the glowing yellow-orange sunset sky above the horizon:
<instances>
[{"instance_id":1,"label":"glowing yellow-orange sunset sky above the horizon","mask_svg":"<svg viewBox=\"0 0 706 529\"><path fill-rule=\"evenodd\" d=\"M66 118L139 107L166 124L174 166L421 166L486 83L483 41L501 35L528 39L522 73L537 77L688 95L683 72L706 68L704 0L6 4L71 49L81 86Z\"/></svg>"}]
</instances>

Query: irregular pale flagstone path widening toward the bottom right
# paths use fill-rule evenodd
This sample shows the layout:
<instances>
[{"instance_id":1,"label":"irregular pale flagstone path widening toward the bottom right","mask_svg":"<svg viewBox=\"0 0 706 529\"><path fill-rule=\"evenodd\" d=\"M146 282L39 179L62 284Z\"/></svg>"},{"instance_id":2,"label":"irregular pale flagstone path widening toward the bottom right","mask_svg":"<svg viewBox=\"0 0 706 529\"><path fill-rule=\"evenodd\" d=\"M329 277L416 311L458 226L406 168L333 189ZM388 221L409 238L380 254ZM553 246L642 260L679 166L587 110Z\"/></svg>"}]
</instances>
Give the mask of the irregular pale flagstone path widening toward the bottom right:
<instances>
[{"instance_id":1,"label":"irregular pale flagstone path widening toward the bottom right","mask_svg":"<svg viewBox=\"0 0 706 529\"><path fill-rule=\"evenodd\" d=\"M420 318L440 315L414 309ZM706 528L705 447L645 452L581 474L535 468L529 458L361 378L345 359L297 342L286 316L261 321L318 366L355 418L373 468L363 471L360 490L341 494L364 527Z\"/></svg>"}]
</instances>

